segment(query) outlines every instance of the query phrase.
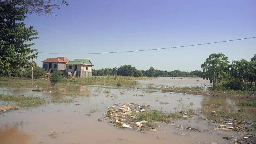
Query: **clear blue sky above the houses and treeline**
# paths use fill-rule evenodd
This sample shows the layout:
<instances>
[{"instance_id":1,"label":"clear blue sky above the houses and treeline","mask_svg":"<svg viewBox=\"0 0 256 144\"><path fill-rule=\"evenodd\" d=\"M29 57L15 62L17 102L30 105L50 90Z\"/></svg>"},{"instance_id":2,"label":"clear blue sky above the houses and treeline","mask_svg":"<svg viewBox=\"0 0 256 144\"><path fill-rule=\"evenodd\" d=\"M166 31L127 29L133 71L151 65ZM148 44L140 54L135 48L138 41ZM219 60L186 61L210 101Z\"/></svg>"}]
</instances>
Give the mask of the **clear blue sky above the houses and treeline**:
<instances>
[{"instance_id":1,"label":"clear blue sky above the houses and treeline","mask_svg":"<svg viewBox=\"0 0 256 144\"><path fill-rule=\"evenodd\" d=\"M146 50L256 36L256 0L67 0L54 16L28 14L38 52L90 53ZM94 69L132 64L140 70L201 70L211 53L229 61L250 60L256 38L119 54L39 54L35 61L65 56L89 58Z\"/></svg>"}]
</instances>

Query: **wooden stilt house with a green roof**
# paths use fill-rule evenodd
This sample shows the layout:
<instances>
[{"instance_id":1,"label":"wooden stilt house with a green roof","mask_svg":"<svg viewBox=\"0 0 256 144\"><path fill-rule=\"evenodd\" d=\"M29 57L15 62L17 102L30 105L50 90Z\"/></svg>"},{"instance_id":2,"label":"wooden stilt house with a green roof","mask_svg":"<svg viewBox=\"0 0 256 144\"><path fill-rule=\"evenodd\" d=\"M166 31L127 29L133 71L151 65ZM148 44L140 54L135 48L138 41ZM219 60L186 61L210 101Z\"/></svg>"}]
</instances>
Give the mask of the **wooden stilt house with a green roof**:
<instances>
[{"instance_id":1,"label":"wooden stilt house with a green roof","mask_svg":"<svg viewBox=\"0 0 256 144\"><path fill-rule=\"evenodd\" d=\"M84 78L92 77L92 62L89 59L74 59L66 63L66 73L68 76L77 76Z\"/></svg>"}]
</instances>

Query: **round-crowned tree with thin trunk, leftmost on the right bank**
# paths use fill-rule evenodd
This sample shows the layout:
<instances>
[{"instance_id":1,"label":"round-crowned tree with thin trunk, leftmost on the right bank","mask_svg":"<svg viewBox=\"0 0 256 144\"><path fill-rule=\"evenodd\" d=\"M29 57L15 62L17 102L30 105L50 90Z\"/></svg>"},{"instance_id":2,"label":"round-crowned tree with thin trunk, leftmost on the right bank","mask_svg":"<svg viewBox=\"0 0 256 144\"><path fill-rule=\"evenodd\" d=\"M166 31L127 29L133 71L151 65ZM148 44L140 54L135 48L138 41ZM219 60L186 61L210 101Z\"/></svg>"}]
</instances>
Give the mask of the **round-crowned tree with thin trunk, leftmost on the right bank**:
<instances>
[{"instance_id":1,"label":"round-crowned tree with thin trunk, leftmost on the right bank","mask_svg":"<svg viewBox=\"0 0 256 144\"><path fill-rule=\"evenodd\" d=\"M213 83L213 89L215 89L215 85L220 81L226 80L228 76L228 57L224 54L210 54L210 56L206 59L204 64L201 65L203 69L203 78L206 80L210 80Z\"/></svg>"}]
</instances>

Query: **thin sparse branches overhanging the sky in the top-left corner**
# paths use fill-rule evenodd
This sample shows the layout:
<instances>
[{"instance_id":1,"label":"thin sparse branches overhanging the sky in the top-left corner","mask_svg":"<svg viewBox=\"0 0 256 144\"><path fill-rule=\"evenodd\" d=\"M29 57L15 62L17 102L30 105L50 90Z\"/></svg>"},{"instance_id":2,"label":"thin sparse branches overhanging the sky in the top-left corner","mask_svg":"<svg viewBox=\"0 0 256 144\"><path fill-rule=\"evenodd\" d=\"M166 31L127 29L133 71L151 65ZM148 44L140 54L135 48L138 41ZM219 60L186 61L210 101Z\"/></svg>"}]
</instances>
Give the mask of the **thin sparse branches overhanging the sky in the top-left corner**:
<instances>
[{"instance_id":1,"label":"thin sparse branches overhanging the sky in the top-left corner","mask_svg":"<svg viewBox=\"0 0 256 144\"><path fill-rule=\"evenodd\" d=\"M52 16L55 9L60 6L68 6L68 2L62 0L0 0L0 8L15 5L37 15Z\"/></svg>"}]
</instances>

